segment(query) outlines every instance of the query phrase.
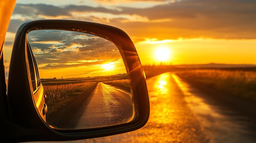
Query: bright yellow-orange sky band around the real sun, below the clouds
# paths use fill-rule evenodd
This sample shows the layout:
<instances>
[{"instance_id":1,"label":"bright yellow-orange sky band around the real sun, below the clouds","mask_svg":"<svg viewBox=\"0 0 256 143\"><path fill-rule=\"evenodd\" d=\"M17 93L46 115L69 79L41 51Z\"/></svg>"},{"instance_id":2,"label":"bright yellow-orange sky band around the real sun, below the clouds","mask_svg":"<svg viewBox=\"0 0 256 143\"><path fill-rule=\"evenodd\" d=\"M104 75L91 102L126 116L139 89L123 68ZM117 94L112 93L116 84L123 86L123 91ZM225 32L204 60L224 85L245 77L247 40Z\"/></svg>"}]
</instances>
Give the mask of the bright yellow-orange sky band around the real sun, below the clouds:
<instances>
[{"instance_id":1,"label":"bright yellow-orange sky band around the real sun, below the clouds","mask_svg":"<svg viewBox=\"0 0 256 143\"><path fill-rule=\"evenodd\" d=\"M159 64L158 48L170 52L166 64L256 64L256 40L180 39L135 44L143 64ZM193 47L193 48L192 48ZM153 57L153 58L152 58Z\"/></svg>"}]
</instances>

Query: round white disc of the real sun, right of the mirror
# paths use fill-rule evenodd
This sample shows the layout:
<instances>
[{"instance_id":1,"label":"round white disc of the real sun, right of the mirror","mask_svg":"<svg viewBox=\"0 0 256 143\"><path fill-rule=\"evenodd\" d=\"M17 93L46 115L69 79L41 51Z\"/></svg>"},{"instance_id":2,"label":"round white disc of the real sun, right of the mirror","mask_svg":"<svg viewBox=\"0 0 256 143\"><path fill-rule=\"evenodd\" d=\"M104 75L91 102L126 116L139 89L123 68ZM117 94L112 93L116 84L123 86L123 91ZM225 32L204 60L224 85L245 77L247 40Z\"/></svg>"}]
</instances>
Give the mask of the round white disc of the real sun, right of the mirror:
<instances>
[{"instance_id":1,"label":"round white disc of the real sun, right of the mirror","mask_svg":"<svg viewBox=\"0 0 256 143\"><path fill-rule=\"evenodd\" d=\"M168 62L171 56L171 51L166 47L159 47L155 50L155 59L158 62Z\"/></svg>"}]
</instances>

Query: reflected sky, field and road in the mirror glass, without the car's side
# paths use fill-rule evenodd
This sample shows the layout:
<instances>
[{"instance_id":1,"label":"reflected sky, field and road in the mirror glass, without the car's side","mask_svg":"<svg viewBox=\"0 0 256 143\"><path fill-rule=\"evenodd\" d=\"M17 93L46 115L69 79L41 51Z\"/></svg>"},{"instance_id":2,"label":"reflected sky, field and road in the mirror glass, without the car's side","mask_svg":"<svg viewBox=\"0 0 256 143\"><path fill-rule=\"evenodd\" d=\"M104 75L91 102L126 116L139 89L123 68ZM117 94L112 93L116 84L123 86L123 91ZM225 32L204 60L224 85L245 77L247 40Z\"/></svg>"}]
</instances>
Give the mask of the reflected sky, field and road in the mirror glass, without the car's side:
<instances>
[{"instance_id":1,"label":"reflected sky, field and road in the mirror glass, without the car's side","mask_svg":"<svg viewBox=\"0 0 256 143\"><path fill-rule=\"evenodd\" d=\"M98 128L134 118L126 67L115 44L96 35L64 30L31 31L27 40L47 95L49 125Z\"/></svg>"}]
</instances>

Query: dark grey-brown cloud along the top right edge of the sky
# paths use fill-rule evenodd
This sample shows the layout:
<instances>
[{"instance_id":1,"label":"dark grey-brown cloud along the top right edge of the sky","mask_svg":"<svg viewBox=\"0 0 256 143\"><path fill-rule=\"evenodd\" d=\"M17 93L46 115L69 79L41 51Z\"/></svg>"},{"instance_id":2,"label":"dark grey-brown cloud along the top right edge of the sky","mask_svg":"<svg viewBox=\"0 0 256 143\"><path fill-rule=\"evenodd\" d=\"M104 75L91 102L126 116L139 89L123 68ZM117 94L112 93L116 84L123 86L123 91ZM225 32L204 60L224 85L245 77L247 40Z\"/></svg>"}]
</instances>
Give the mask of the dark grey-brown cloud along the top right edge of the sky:
<instances>
[{"instance_id":1,"label":"dark grey-brown cloud along the top right edge of the sky","mask_svg":"<svg viewBox=\"0 0 256 143\"><path fill-rule=\"evenodd\" d=\"M157 20L165 18L196 18L199 16L211 18L252 16L255 18L255 7L255 0L182 0L147 9L120 8L122 13L137 14L150 20Z\"/></svg>"}]
</instances>

